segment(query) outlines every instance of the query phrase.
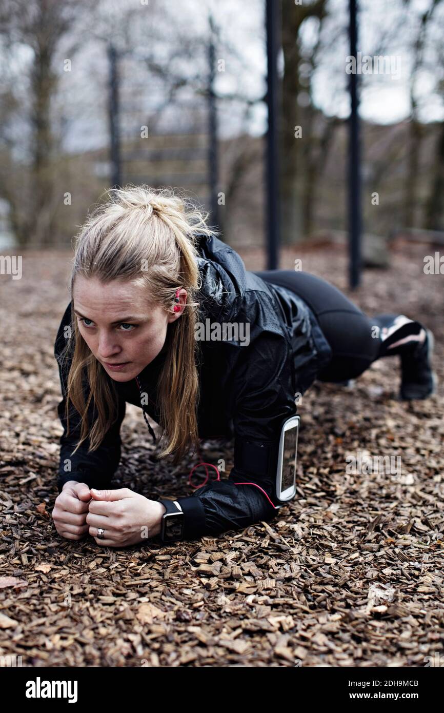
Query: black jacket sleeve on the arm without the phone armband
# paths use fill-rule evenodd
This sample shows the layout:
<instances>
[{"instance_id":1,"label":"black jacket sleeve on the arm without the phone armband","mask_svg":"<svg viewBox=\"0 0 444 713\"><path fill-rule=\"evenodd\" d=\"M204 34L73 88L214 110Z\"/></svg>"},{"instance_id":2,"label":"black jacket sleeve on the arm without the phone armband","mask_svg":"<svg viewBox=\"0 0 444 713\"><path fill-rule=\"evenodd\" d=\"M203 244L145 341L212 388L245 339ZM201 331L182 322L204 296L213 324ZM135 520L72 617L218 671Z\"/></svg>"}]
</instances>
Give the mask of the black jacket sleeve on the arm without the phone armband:
<instances>
[{"instance_id":1,"label":"black jacket sleeve on the arm without the phone armband","mask_svg":"<svg viewBox=\"0 0 444 713\"><path fill-rule=\"evenodd\" d=\"M66 423L66 387L70 368L70 359L61 360L62 349L66 345L68 334L66 327L71 324L71 302L66 308L54 345L54 356L58 362L58 374L60 376L62 400L58 404L58 417L63 426L63 434L60 438L60 461L58 466L57 487L61 493L64 483L67 481L78 481L86 483L90 488L107 488L111 478L115 473L120 461L120 425L125 416L124 400L120 399L118 404L118 419L108 429L103 441L95 451L88 453L89 438L81 444L80 448L73 453L74 448L80 440L81 416L70 402L69 411L69 434L67 435ZM87 398L87 389L85 392ZM88 423L93 424L94 399L88 407Z\"/></svg>"}]
</instances>

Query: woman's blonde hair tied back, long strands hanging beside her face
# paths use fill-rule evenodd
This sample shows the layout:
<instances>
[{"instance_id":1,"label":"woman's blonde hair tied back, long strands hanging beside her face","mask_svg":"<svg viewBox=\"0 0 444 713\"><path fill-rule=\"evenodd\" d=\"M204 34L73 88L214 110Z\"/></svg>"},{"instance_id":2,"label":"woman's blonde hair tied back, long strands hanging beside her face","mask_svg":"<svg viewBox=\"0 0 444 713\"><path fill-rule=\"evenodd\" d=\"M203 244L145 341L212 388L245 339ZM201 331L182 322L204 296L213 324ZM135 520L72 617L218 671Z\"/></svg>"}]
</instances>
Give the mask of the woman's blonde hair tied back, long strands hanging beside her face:
<instances>
[{"instance_id":1,"label":"woman's blonde hair tied back, long strands hanging beside her face","mask_svg":"<svg viewBox=\"0 0 444 713\"><path fill-rule=\"evenodd\" d=\"M71 273L71 300L77 275L102 282L125 279L141 282L155 304L171 309L178 287L187 291L180 319L167 329L167 358L158 380L158 411L162 450L158 457L172 453L177 463L192 444L198 442L197 406L199 381L198 342L195 323L200 289L197 265L197 236L218 235L207 226L208 213L192 205L172 188L126 185L105 194L76 235ZM142 265L144 267L142 268ZM81 414L81 437L77 448L89 437L89 451L95 451L117 419L117 392L103 366L83 340L74 315L71 339L62 358L70 358L66 418L69 401ZM86 369L90 386L85 403L82 374ZM88 424L88 406L94 399L98 418ZM68 431L69 432L69 431Z\"/></svg>"}]
</instances>

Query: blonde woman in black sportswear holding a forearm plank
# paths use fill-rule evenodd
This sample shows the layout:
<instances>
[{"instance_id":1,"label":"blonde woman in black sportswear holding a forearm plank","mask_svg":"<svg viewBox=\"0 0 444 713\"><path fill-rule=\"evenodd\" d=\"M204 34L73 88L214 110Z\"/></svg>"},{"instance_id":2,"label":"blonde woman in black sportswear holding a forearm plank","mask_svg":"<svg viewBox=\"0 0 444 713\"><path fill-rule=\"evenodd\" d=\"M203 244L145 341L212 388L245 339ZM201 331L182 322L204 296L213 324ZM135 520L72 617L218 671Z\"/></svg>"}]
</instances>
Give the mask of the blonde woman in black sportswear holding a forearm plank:
<instances>
[{"instance_id":1,"label":"blonde woman in black sportswear holding a forearm plank","mask_svg":"<svg viewBox=\"0 0 444 713\"><path fill-rule=\"evenodd\" d=\"M432 334L419 322L369 319L314 275L249 272L206 217L172 190L128 186L76 237L54 350L63 435L53 520L65 538L125 547L269 520L282 504L282 424L314 379L343 382L400 354L401 398L434 391ZM158 458L173 463L200 438L234 436L229 478L176 501L110 489L127 401L153 438L145 411L160 425Z\"/></svg>"}]
</instances>

